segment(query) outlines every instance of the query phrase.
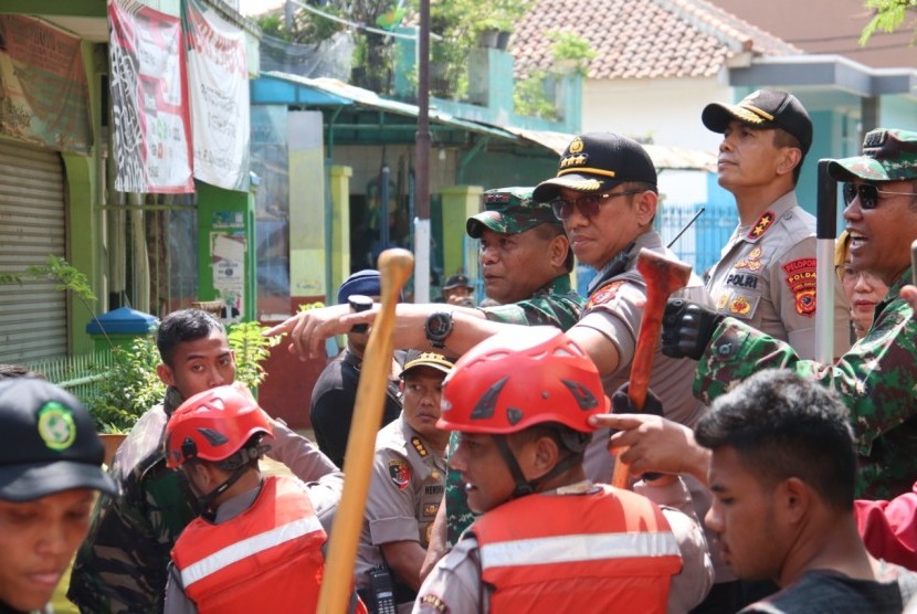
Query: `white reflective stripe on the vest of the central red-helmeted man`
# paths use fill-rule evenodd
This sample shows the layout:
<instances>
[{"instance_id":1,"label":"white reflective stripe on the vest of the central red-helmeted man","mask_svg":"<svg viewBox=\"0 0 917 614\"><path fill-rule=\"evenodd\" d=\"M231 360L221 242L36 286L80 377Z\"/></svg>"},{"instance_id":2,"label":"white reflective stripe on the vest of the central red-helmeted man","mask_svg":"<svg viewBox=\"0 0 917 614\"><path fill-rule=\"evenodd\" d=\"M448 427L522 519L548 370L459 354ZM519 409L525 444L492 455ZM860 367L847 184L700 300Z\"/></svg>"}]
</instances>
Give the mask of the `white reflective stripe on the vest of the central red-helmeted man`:
<instances>
[{"instance_id":1,"label":"white reflective stripe on the vest of the central red-helmeted man","mask_svg":"<svg viewBox=\"0 0 917 614\"><path fill-rule=\"evenodd\" d=\"M487 543L481 547L482 569L569 563L679 554L671 532L580 533Z\"/></svg>"}]
</instances>

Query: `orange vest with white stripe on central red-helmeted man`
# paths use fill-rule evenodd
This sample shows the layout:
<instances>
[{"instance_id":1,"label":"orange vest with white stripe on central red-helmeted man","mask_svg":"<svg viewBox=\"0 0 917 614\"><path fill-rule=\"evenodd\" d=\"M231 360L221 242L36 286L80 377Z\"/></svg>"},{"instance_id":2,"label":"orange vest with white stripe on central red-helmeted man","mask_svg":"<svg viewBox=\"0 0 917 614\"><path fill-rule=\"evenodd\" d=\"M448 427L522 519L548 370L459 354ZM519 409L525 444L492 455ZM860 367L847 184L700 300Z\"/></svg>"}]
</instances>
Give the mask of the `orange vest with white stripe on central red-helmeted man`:
<instances>
[{"instance_id":1,"label":"orange vest with white stripe on central red-helmeted man","mask_svg":"<svg viewBox=\"0 0 917 614\"><path fill-rule=\"evenodd\" d=\"M599 493L529 495L481 518L481 573L491 612L665 613L678 543L650 499Z\"/></svg>"}]
</instances>

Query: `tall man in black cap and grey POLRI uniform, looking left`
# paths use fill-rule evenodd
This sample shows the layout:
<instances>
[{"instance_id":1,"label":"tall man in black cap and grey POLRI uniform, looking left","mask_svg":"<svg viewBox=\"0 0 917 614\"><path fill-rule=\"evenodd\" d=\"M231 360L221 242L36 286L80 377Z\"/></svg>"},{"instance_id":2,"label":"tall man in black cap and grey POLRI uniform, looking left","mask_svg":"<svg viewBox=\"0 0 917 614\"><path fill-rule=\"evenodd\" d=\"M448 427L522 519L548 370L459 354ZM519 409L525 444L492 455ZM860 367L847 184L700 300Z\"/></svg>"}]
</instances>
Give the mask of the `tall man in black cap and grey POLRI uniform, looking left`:
<instances>
[{"instance_id":1,"label":"tall man in black cap and grey POLRI uniform, looking left","mask_svg":"<svg viewBox=\"0 0 917 614\"><path fill-rule=\"evenodd\" d=\"M714 265L707 290L717 311L815 356L815 218L793 191L812 145L812 121L795 96L759 89L737 105L713 103L704 125L723 134L719 184L736 198L739 225ZM834 356L850 348L846 295L834 285Z\"/></svg>"}]
</instances>

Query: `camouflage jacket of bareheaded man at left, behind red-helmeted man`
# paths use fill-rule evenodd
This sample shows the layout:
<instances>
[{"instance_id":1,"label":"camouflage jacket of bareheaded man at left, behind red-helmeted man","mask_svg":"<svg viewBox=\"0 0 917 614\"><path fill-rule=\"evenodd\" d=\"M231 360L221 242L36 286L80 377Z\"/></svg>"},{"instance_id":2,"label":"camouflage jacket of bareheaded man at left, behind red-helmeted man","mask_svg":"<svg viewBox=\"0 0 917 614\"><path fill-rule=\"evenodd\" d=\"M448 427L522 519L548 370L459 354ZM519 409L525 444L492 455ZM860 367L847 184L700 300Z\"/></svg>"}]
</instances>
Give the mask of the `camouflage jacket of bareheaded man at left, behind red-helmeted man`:
<instances>
[{"instance_id":1,"label":"camouflage jacket of bareheaded man at left, behind red-helmeted man","mask_svg":"<svg viewBox=\"0 0 917 614\"><path fill-rule=\"evenodd\" d=\"M108 473L122 496L99 497L80 547L67 597L81 612L161 612L169 552L198 516L178 472L166 468L162 434L181 395L169 388L118 448Z\"/></svg>"}]
</instances>

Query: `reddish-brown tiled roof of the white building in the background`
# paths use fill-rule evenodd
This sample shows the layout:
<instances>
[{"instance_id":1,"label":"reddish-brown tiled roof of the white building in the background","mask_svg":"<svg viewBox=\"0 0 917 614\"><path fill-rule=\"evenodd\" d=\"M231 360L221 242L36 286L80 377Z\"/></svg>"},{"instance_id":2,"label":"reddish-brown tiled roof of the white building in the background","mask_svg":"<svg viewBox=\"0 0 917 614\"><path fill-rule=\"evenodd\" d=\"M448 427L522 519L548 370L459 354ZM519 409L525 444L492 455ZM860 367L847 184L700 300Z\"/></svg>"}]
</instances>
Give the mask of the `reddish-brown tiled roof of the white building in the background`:
<instances>
[{"instance_id":1,"label":"reddish-brown tiled roof of the white building in the background","mask_svg":"<svg viewBox=\"0 0 917 614\"><path fill-rule=\"evenodd\" d=\"M600 80L710 76L737 53L801 53L704 0L538 0L510 40L518 75L551 67L550 31L589 41L587 74Z\"/></svg>"}]
</instances>

